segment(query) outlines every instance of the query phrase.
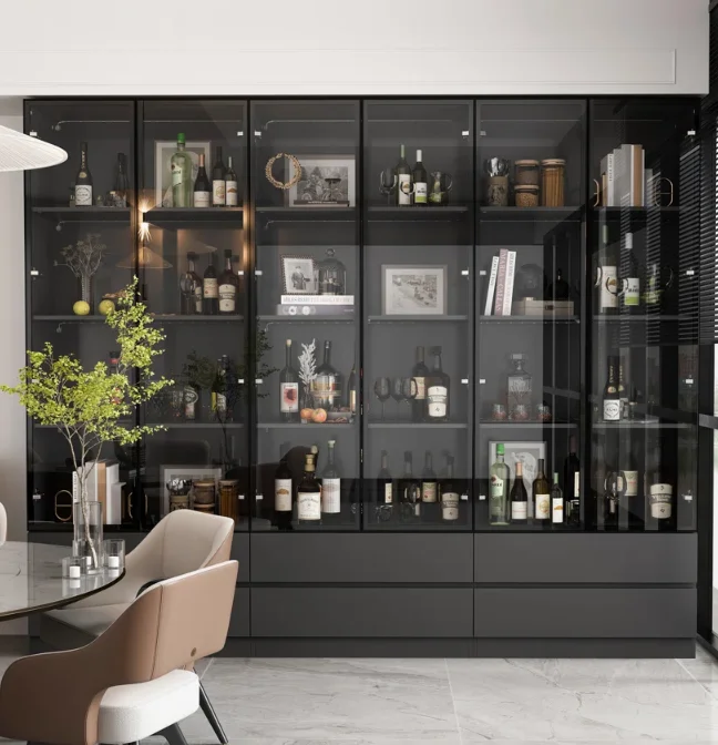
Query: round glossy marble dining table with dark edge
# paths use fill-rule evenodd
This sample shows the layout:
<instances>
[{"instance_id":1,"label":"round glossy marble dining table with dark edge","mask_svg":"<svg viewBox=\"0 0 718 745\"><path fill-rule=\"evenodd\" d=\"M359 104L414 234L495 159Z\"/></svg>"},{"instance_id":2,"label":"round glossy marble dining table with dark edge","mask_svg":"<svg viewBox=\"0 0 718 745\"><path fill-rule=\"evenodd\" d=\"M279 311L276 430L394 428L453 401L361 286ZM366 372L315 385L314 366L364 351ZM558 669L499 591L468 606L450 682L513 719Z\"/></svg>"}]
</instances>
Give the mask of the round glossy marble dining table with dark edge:
<instances>
[{"instance_id":1,"label":"round glossy marble dining table with dark edge","mask_svg":"<svg viewBox=\"0 0 718 745\"><path fill-rule=\"evenodd\" d=\"M0 620L49 611L101 592L124 576L104 570L80 579L62 576L66 545L7 541L0 545Z\"/></svg>"}]
</instances>

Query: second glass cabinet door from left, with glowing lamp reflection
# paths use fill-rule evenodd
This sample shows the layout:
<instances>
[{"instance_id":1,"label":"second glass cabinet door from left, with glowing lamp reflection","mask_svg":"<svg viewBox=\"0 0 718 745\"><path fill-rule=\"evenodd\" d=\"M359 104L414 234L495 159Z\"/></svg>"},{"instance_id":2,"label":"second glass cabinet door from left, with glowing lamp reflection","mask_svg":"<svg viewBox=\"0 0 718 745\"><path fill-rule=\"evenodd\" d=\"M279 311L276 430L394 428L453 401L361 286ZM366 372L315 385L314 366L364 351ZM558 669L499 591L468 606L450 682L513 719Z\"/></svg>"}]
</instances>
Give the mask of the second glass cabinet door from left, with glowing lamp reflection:
<instances>
[{"instance_id":1,"label":"second glass cabinet door from left, with glowing lamp reflection","mask_svg":"<svg viewBox=\"0 0 718 745\"><path fill-rule=\"evenodd\" d=\"M194 506L249 523L247 105L144 101L137 271L174 386L142 412L148 525Z\"/></svg>"}]
</instances>

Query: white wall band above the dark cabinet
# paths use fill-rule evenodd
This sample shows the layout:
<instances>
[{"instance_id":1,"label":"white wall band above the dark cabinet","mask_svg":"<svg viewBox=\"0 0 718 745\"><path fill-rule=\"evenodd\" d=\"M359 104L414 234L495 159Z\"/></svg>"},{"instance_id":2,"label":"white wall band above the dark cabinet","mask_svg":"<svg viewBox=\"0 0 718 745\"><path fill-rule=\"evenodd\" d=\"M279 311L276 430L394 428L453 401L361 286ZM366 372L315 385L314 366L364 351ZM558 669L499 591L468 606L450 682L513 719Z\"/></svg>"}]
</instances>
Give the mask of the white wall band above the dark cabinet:
<instances>
[{"instance_id":1,"label":"white wall band above the dark cabinet","mask_svg":"<svg viewBox=\"0 0 718 745\"><path fill-rule=\"evenodd\" d=\"M0 95L708 91L708 0L34 0Z\"/></svg>"}]
</instances>

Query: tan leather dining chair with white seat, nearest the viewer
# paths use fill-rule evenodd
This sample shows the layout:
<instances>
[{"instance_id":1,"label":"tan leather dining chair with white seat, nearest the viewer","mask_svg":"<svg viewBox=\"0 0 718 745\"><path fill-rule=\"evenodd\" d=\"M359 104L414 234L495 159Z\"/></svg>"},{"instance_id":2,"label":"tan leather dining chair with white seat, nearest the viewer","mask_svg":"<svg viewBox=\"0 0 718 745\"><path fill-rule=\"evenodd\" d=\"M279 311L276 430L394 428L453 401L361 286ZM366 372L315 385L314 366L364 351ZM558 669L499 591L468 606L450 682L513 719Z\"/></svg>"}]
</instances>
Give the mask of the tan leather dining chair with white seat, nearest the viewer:
<instances>
[{"instance_id":1,"label":"tan leather dining chair with white seat, nearest the viewer","mask_svg":"<svg viewBox=\"0 0 718 745\"><path fill-rule=\"evenodd\" d=\"M177 726L199 707L192 665L226 642L237 582L226 561L142 592L79 650L13 662L0 683L0 736L50 745L121 745Z\"/></svg>"}]
</instances>

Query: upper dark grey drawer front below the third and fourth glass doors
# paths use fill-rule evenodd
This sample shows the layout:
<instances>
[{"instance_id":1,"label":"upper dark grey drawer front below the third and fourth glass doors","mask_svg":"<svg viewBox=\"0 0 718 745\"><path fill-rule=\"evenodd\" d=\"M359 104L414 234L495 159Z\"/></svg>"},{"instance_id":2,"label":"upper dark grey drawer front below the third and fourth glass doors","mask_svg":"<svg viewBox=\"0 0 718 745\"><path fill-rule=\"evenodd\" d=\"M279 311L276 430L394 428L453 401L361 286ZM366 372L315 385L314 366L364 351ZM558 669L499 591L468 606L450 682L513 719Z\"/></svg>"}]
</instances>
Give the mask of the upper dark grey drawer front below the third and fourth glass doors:
<instances>
[{"instance_id":1,"label":"upper dark grey drawer front below the third and fourth glass doors","mask_svg":"<svg viewBox=\"0 0 718 745\"><path fill-rule=\"evenodd\" d=\"M252 581L472 582L472 535L254 533Z\"/></svg>"}]
</instances>

